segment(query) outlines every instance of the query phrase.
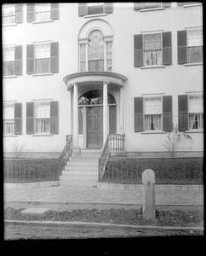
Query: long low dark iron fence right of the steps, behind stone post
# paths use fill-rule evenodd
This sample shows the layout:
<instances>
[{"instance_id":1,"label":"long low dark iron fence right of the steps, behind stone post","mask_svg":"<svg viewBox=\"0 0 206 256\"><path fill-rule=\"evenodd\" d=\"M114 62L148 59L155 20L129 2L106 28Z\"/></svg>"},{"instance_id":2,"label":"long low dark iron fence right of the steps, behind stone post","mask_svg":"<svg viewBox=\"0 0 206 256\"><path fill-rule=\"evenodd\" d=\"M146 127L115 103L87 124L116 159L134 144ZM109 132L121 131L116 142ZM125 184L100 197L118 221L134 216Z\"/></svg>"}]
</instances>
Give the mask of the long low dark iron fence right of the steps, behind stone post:
<instances>
[{"instance_id":1,"label":"long low dark iron fence right of the steps, behind stone post","mask_svg":"<svg viewBox=\"0 0 206 256\"><path fill-rule=\"evenodd\" d=\"M203 157L109 158L99 182L140 184L146 169L155 172L159 184L203 184Z\"/></svg>"}]
</instances>

